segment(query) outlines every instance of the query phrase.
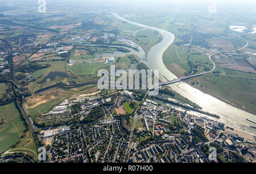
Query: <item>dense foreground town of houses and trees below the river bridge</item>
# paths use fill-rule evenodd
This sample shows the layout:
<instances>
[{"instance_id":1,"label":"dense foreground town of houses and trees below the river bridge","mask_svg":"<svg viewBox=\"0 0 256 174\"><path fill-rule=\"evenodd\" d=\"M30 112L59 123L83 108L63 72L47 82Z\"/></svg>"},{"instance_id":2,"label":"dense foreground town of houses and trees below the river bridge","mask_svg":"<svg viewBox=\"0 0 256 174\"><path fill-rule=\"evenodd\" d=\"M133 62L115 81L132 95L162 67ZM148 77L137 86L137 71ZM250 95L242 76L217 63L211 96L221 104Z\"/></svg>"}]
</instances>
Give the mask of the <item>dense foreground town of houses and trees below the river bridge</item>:
<instances>
[{"instance_id":1,"label":"dense foreground town of houses and trees below the river bridge","mask_svg":"<svg viewBox=\"0 0 256 174\"><path fill-rule=\"evenodd\" d=\"M135 116L134 109L139 106L136 97L123 90L112 97L64 100L39 117L39 125L79 121L40 131L51 157L48 161L210 163L255 159L253 136L149 99L142 102ZM90 114L94 110L102 113L101 117ZM209 160L210 147L217 149L216 161Z\"/></svg>"}]
</instances>

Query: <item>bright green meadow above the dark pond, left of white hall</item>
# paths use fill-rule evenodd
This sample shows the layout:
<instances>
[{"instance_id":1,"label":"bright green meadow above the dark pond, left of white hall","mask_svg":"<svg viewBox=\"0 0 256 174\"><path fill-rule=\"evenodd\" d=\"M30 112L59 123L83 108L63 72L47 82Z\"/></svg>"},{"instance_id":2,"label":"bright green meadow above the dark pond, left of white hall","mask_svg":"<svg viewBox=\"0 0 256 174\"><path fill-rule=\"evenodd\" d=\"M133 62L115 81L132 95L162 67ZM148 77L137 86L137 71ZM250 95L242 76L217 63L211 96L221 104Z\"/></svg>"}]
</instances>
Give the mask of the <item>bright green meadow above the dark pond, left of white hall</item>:
<instances>
[{"instance_id":1,"label":"bright green meadow above the dark pond, left of white hall","mask_svg":"<svg viewBox=\"0 0 256 174\"><path fill-rule=\"evenodd\" d=\"M40 77L40 76L44 76L47 73L51 72L51 71L66 71L65 65L66 65L67 61L48 61L48 62L40 62L39 64L49 64L51 65L51 67L48 68L44 68L44 69L40 69L34 73L32 73L32 77Z\"/></svg>"}]
</instances>

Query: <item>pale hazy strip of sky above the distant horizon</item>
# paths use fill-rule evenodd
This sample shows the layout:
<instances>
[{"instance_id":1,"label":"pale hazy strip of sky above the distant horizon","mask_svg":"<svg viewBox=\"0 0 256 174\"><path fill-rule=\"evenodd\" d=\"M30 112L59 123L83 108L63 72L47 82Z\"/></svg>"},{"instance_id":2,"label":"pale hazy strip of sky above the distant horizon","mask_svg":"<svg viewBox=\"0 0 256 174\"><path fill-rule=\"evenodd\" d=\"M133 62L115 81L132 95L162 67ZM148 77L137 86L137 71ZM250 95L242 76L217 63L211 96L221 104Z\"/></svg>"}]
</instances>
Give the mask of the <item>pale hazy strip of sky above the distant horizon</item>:
<instances>
[{"instance_id":1,"label":"pale hazy strip of sky above the distant horizon","mask_svg":"<svg viewBox=\"0 0 256 174\"><path fill-rule=\"evenodd\" d=\"M165 9L176 10L208 10L211 2L216 2L218 10L232 10L240 8L256 9L256 0L46 0L47 5L85 5L90 6L110 6L113 8L134 7L136 9L156 9L163 7ZM38 5L38 0L0 0L0 5L18 2L30 2Z\"/></svg>"}]
</instances>

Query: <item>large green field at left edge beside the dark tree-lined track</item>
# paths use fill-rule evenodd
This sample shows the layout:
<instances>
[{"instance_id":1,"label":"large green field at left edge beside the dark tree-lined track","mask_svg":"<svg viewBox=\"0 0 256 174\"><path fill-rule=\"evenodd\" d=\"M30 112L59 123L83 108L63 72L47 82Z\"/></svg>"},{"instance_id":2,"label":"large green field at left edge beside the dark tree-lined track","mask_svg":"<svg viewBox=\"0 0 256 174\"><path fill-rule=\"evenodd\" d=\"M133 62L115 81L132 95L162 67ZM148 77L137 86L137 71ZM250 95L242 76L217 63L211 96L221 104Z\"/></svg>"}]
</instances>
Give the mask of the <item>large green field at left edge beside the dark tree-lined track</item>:
<instances>
[{"instance_id":1,"label":"large green field at left edge beside the dark tree-lined track","mask_svg":"<svg viewBox=\"0 0 256 174\"><path fill-rule=\"evenodd\" d=\"M0 153L17 143L25 130L14 103L0 106L0 122L2 121L3 124L0 125Z\"/></svg>"}]
</instances>

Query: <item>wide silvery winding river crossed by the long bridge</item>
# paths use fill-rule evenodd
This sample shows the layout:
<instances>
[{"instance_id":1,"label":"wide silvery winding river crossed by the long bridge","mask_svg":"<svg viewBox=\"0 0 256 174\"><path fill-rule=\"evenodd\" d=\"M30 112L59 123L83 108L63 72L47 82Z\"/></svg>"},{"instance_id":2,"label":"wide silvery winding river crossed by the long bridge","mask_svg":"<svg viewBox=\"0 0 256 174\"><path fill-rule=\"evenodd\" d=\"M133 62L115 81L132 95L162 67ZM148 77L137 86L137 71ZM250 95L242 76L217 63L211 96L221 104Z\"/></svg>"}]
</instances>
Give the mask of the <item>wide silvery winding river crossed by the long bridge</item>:
<instances>
[{"instance_id":1,"label":"wide silvery winding river crossed by the long bridge","mask_svg":"<svg viewBox=\"0 0 256 174\"><path fill-rule=\"evenodd\" d=\"M145 24L133 22L122 18L116 13L112 13L114 18L125 21L135 26L142 28L147 28L149 30L158 31L162 36L163 40L154 45L151 48L150 52L147 55L147 61L141 58L142 62L148 66L150 69L159 69L159 80L166 82L168 80L173 80L177 78L175 74L169 71L163 63L163 53L166 49L174 42L175 36L171 32L162 30L160 28L147 26ZM164 77L166 78L164 78ZM256 135L256 129L253 129L250 126L255 126L254 123L247 121L246 119L251 119L256 122L256 115L248 113L247 111L238 109L228 103L222 102L217 98L209 96L201 92L200 90L193 88L192 86L186 84L185 82L179 82L177 84L169 85L175 92L181 94L181 96L188 98L197 105L203 107L203 110L212 114L220 116L220 119L217 121L223 122L226 126L233 127L241 131L248 132L250 134ZM189 112L188 112L189 113ZM198 113L193 113L195 115L202 115ZM204 115L205 116L205 115ZM213 118L211 118L213 119Z\"/></svg>"}]
</instances>

